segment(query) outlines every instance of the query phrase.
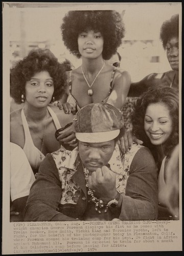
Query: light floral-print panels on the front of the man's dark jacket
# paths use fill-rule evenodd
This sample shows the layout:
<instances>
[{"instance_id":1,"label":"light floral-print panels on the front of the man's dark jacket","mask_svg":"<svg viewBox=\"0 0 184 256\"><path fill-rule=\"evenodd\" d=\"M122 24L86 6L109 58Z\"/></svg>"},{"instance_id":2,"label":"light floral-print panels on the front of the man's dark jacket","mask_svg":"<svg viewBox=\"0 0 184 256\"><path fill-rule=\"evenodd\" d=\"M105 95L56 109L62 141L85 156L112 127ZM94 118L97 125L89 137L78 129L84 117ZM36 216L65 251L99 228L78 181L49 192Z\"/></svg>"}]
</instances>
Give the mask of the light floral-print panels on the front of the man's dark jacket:
<instances>
[{"instance_id":1,"label":"light floral-print panels on the front of the man's dark jacket","mask_svg":"<svg viewBox=\"0 0 184 256\"><path fill-rule=\"evenodd\" d=\"M125 194L132 159L141 147L141 145L133 144L131 150L121 158L119 146L116 145L112 157L108 162L109 169L116 173L116 188L121 194ZM56 163L61 181L61 204L77 204L81 194L81 188L72 179L72 176L77 172L80 162L78 147L73 151L67 151L61 146L58 151L51 155Z\"/></svg>"}]
</instances>

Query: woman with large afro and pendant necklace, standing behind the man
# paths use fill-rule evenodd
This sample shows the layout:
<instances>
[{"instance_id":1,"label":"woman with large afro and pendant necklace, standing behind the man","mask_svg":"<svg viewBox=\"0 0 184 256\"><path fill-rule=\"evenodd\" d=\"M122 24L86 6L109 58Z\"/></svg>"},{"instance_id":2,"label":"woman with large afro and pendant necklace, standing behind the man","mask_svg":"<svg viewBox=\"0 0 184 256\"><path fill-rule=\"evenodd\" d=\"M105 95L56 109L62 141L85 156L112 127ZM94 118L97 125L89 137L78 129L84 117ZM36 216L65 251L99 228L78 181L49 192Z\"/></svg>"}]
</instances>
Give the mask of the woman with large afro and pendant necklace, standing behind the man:
<instances>
[{"instance_id":1,"label":"woman with large afro and pendant necklace, standing behind the man","mask_svg":"<svg viewBox=\"0 0 184 256\"><path fill-rule=\"evenodd\" d=\"M112 10L69 11L61 25L64 45L82 65L68 72L66 94L61 99L77 111L93 102L107 102L122 109L130 75L105 60L117 52L124 37L121 15ZM61 141L64 134L58 138Z\"/></svg>"}]
</instances>

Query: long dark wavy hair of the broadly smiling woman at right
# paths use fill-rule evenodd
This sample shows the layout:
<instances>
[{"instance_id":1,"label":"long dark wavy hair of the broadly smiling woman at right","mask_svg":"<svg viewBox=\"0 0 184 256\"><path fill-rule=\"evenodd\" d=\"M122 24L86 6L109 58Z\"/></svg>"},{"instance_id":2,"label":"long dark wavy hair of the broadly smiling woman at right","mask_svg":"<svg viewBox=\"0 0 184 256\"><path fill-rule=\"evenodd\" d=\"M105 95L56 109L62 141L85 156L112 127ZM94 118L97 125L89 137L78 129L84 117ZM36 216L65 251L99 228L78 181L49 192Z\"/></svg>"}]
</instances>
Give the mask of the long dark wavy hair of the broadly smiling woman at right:
<instances>
[{"instance_id":1,"label":"long dark wavy hair of the broadly smiling woman at right","mask_svg":"<svg viewBox=\"0 0 184 256\"><path fill-rule=\"evenodd\" d=\"M172 118L172 133L165 145L165 155L169 156L175 145L179 143L179 96L173 88L157 86L148 90L134 103L131 116L133 129L132 132L137 139L144 142L151 151L155 151L144 130L144 118L148 105L152 103L163 103L167 106ZM155 155L155 154L153 154Z\"/></svg>"}]
</instances>

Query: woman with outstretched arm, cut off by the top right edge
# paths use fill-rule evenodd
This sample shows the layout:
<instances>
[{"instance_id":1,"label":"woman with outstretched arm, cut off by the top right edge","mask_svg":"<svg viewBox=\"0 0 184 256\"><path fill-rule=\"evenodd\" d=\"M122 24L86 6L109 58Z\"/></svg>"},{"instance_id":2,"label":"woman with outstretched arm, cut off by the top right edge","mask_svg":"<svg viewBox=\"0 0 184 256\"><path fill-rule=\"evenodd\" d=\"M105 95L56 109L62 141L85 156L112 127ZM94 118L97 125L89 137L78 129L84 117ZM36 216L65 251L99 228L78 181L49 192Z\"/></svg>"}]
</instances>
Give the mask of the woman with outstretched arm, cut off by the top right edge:
<instances>
[{"instance_id":1,"label":"woman with outstretched arm, cut off by the top right edge","mask_svg":"<svg viewBox=\"0 0 184 256\"><path fill-rule=\"evenodd\" d=\"M128 96L139 97L150 87L169 86L178 91L178 70L179 70L179 15L173 15L166 20L160 28L160 39L167 52L167 58L171 69L165 73L152 73L139 82L131 83Z\"/></svg>"}]
</instances>

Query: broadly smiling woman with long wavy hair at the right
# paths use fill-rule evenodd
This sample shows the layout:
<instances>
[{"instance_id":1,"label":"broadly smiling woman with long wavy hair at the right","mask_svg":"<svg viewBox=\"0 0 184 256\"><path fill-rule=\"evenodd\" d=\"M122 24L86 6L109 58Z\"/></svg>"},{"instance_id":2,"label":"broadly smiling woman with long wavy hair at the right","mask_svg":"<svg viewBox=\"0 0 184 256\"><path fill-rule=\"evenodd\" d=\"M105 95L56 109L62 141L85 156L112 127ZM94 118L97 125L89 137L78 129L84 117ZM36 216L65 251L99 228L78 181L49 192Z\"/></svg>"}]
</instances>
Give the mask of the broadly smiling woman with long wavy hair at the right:
<instances>
[{"instance_id":1,"label":"broadly smiling woman with long wavy hair at the right","mask_svg":"<svg viewBox=\"0 0 184 256\"><path fill-rule=\"evenodd\" d=\"M152 152L158 166L158 219L179 214L179 97L170 87L157 86L137 99L133 134Z\"/></svg>"}]
</instances>

